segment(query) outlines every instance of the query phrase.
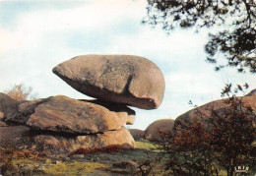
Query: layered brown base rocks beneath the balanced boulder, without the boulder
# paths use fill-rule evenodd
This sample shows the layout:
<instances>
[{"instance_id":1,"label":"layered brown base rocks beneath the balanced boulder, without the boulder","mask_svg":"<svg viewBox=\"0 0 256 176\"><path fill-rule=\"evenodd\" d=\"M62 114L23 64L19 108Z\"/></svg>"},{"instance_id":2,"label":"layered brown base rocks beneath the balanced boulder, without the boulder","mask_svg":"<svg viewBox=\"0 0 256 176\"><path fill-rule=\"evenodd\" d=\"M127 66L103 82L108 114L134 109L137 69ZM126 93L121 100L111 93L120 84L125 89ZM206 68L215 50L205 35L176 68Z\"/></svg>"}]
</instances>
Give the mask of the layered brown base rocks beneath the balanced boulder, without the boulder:
<instances>
[{"instance_id":1,"label":"layered brown base rocks beneath the balanced boulder, without the boulder","mask_svg":"<svg viewBox=\"0 0 256 176\"><path fill-rule=\"evenodd\" d=\"M123 119L93 102L57 95L16 104L12 112L0 123L2 147L49 154L69 153L79 147L136 147L122 127Z\"/></svg>"}]
</instances>

